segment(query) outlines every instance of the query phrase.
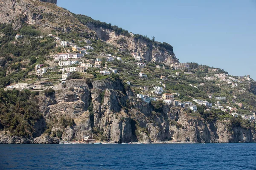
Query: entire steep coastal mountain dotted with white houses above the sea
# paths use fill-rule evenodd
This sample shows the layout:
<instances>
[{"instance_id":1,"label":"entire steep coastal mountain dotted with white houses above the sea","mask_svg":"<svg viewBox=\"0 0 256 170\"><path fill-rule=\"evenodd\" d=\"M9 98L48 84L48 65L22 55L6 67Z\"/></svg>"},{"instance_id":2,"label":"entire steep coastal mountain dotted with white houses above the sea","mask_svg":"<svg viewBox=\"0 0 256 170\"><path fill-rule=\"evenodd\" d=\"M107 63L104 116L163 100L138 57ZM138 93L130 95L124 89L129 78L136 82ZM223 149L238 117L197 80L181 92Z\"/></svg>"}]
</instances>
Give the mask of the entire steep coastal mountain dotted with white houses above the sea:
<instances>
[{"instance_id":1,"label":"entire steep coastal mountain dotted with white houses above the sea","mask_svg":"<svg viewBox=\"0 0 256 170\"><path fill-rule=\"evenodd\" d=\"M0 143L256 141L250 75L55 4L0 0Z\"/></svg>"}]
</instances>

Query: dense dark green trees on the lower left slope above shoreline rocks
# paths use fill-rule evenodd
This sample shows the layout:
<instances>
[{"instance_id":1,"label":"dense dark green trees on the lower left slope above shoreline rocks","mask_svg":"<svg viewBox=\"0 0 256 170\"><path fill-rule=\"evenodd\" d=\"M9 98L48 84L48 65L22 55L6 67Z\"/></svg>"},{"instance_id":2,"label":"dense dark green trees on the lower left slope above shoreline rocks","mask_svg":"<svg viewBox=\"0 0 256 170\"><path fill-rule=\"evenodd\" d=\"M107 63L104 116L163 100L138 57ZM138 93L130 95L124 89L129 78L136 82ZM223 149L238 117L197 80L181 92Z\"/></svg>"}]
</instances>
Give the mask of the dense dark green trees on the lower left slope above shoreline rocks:
<instances>
[{"instance_id":1,"label":"dense dark green trees on the lower left slope above shoreline rocks","mask_svg":"<svg viewBox=\"0 0 256 170\"><path fill-rule=\"evenodd\" d=\"M35 122L42 119L39 107L30 99L31 92L0 89L0 123L14 136L32 137Z\"/></svg>"}]
</instances>

